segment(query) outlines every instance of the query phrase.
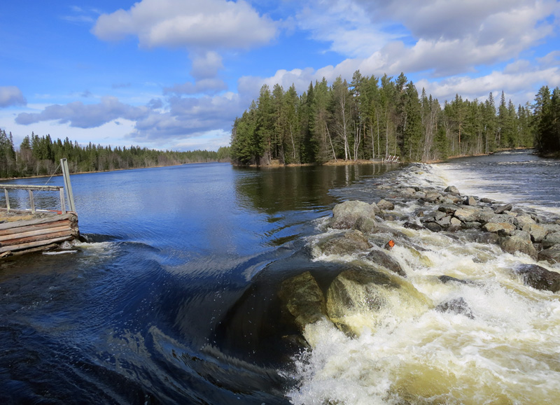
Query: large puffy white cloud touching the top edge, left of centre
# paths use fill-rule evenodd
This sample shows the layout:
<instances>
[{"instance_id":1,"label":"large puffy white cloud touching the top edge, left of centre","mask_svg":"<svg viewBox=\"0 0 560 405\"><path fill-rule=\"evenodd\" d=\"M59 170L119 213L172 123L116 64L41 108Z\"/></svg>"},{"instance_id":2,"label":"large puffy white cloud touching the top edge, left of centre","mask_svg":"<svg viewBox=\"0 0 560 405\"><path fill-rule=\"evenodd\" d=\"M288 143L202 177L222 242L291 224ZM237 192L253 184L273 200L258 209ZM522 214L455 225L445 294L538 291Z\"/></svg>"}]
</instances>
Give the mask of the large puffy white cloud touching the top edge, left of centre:
<instances>
[{"instance_id":1,"label":"large puffy white cloud touching the top edge, left of centre","mask_svg":"<svg viewBox=\"0 0 560 405\"><path fill-rule=\"evenodd\" d=\"M248 49L269 43L276 29L243 0L142 0L99 16L92 31L104 41L137 36L144 48Z\"/></svg>"}]
</instances>

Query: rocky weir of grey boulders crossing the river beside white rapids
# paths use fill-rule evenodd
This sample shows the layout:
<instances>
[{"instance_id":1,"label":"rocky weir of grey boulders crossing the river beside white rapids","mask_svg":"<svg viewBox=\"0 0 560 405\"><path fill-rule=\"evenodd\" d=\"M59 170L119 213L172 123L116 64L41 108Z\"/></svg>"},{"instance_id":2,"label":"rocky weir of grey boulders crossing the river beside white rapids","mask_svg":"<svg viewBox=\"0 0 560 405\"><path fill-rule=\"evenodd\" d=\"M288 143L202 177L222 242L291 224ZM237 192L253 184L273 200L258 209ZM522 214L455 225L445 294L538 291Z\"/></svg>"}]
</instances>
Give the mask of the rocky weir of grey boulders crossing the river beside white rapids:
<instances>
[{"instance_id":1,"label":"rocky weir of grey boulders crossing the river beside white rapids","mask_svg":"<svg viewBox=\"0 0 560 405\"><path fill-rule=\"evenodd\" d=\"M364 267L347 262L346 270L326 287L320 287L321 283L307 271L284 280L279 289L279 298L290 313L291 322L311 346L313 343L304 332L307 325L325 320L346 334L359 334L360 325L353 321L353 314L358 310L379 312L390 301L389 293L402 295L399 305L410 303L414 308L433 305L409 283L407 274L390 252L394 241L405 243L419 256L422 248L391 227L391 221L419 232L444 232L465 241L492 243L507 253L528 255L547 267L560 262L560 221L545 218L537 211L461 196L454 186L437 190L384 184L377 186L377 190L384 195L377 203L345 201L335 206L332 218L325 224L330 232L319 236L311 246L314 257L361 257L369 264ZM560 273L538 264L519 264L512 273L529 287L560 290ZM469 282L445 275L439 279L441 283ZM461 299L443 302L435 309L472 317L470 308Z\"/></svg>"}]
</instances>

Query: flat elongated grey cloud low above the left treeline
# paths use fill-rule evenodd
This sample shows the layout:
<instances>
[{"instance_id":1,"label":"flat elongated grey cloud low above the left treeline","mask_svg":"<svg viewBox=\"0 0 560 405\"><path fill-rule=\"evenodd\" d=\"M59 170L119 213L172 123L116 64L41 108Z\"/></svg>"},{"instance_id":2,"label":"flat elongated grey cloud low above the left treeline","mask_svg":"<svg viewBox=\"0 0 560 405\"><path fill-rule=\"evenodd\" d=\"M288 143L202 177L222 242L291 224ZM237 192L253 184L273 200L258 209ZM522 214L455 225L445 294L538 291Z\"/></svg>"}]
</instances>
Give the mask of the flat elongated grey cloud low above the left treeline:
<instances>
[{"instance_id":1,"label":"flat elongated grey cloud low above the left treeline","mask_svg":"<svg viewBox=\"0 0 560 405\"><path fill-rule=\"evenodd\" d=\"M29 125L41 121L57 120L71 127L95 128L118 118L139 120L149 112L148 107L134 107L123 104L116 97L103 97L99 104L83 104L73 101L69 104L47 106L41 113L20 113L15 122Z\"/></svg>"}]
</instances>

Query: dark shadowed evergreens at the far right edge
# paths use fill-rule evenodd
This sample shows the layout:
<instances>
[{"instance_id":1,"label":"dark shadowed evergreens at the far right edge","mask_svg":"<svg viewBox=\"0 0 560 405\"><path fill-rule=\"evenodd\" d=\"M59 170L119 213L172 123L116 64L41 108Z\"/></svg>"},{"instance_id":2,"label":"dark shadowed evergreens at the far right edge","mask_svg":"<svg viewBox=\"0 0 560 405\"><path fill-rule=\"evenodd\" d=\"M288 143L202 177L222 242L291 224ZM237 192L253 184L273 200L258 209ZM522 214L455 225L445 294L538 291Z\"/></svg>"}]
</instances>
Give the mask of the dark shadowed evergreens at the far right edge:
<instances>
[{"instance_id":1,"label":"dark shadowed evergreens at the far right edge","mask_svg":"<svg viewBox=\"0 0 560 405\"><path fill-rule=\"evenodd\" d=\"M540 87L534 104L535 144L543 155L560 155L560 88Z\"/></svg>"}]
</instances>

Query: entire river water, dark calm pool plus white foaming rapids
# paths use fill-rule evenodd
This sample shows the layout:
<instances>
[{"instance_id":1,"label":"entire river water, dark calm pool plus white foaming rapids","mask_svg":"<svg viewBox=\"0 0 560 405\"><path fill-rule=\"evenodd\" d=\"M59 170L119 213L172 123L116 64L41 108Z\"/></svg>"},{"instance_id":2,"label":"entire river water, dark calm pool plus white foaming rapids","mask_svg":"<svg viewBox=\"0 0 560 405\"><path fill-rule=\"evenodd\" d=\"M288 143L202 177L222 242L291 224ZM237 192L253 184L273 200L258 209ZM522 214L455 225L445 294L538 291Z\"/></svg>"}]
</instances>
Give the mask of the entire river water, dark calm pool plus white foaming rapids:
<instances>
[{"instance_id":1,"label":"entire river water, dark calm pool plus white foaming rapids","mask_svg":"<svg viewBox=\"0 0 560 405\"><path fill-rule=\"evenodd\" d=\"M397 240L391 250L410 293L356 313L353 336L308 325L306 350L286 339L298 332L277 292L304 271L327 283L364 265L359 254L314 249L341 201L378 201L384 183L454 184L552 216L559 169L523 152L431 166L193 164L71 176L87 241L0 262L0 401L556 404L560 294L512 276L529 257L387 221L418 247ZM50 198L36 205L56 209ZM456 297L472 317L435 311Z\"/></svg>"}]
</instances>

